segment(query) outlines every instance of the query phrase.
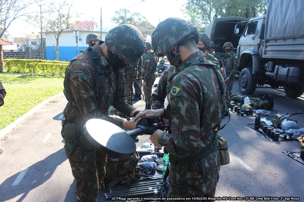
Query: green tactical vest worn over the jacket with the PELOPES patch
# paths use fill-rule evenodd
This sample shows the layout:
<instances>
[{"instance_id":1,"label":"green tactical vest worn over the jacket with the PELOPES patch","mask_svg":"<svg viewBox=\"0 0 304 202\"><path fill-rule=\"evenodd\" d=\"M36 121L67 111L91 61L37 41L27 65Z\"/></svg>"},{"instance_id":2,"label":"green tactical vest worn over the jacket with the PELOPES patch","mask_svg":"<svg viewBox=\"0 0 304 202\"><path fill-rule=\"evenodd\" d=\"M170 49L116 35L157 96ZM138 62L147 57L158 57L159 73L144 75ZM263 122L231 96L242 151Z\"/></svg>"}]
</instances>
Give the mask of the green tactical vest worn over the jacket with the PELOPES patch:
<instances>
[{"instance_id":1,"label":"green tactical vest worn over the jacket with the PELOPES patch","mask_svg":"<svg viewBox=\"0 0 304 202\"><path fill-rule=\"evenodd\" d=\"M106 61L99 59L97 51L93 47L85 48L85 49L81 50L80 52L84 52L85 54L87 54L89 56L92 66L96 70L95 91L97 94L99 94L99 96L101 98L103 96L103 94L105 93L105 75L104 75L105 72L103 71L103 67L105 67ZM121 88L122 79L123 79L123 70L115 69L115 72L116 72L116 78L118 78L118 79L116 79L116 82L117 82L116 86L117 86L117 88Z\"/></svg>"}]
</instances>

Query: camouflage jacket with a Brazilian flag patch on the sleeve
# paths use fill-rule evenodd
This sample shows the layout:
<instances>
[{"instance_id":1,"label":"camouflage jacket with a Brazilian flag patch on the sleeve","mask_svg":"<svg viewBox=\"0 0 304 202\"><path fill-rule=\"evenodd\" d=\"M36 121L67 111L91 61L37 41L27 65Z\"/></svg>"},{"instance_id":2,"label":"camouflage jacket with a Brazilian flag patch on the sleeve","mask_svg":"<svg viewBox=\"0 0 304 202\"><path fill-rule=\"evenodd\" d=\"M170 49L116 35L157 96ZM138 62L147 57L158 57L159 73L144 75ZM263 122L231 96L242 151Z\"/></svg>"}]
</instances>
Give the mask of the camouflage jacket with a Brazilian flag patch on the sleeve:
<instances>
[{"instance_id":1,"label":"camouflage jacket with a Brazilian flag patch on the sleeve","mask_svg":"<svg viewBox=\"0 0 304 202\"><path fill-rule=\"evenodd\" d=\"M203 64L198 64L200 59L203 59ZM201 51L197 51L186 58L173 75L169 88L171 106L167 108L172 134L163 132L158 140L170 156L195 156L215 137L215 129L222 121L221 111L224 105L219 82L224 86L224 81L221 76L219 81L217 74L220 73L212 66L216 67L206 60ZM218 153L212 153L196 162L200 162L202 167L210 166L219 171L219 159L214 155ZM181 167L184 165L171 164L170 168L174 170L170 172L171 179L187 181L187 169ZM215 183L216 180L211 181L210 183Z\"/></svg>"}]
</instances>

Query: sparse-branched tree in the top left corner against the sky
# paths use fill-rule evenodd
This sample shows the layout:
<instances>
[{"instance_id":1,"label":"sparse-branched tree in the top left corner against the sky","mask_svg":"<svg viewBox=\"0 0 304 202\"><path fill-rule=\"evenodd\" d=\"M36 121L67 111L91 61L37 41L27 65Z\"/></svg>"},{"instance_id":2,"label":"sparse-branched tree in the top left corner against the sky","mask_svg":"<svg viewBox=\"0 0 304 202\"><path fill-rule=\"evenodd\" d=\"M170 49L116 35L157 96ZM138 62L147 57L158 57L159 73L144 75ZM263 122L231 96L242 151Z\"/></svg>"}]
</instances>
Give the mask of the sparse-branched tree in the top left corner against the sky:
<instances>
[{"instance_id":1,"label":"sparse-branched tree in the top left corner against the sky","mask_svg":"<svg viewBox=\"0 0 304 202\"><path fill-rule=\"evenodd\" d=\"M11 23L16 19L22 19L29 15L29 5L36 3L36 0L0 0L0 38L3 37Z\"/></svg>"}]
</instances>

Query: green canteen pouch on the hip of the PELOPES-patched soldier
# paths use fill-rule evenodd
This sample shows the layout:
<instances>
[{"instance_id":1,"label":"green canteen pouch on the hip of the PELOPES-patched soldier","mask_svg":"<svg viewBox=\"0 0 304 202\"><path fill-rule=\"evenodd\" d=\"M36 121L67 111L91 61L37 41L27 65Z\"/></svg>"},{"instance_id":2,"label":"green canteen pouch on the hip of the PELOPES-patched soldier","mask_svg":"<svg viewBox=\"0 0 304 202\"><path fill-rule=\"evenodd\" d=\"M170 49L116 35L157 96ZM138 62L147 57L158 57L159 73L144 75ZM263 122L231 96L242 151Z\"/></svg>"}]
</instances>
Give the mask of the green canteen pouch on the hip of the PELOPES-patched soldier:
<instances>
[{"instance_id":1,"label":"green canteen pouch on the hip of the PELOPES-patched soldier","mask_svg":"<svg viewBox=\"0 0 304 202\"><path fill-rule=\"evenodd\" d=\"M78 127L75 123L68 123L64 127L64 144L67 153L73 154L78 142Z\"/></svg>"}]
</instances>

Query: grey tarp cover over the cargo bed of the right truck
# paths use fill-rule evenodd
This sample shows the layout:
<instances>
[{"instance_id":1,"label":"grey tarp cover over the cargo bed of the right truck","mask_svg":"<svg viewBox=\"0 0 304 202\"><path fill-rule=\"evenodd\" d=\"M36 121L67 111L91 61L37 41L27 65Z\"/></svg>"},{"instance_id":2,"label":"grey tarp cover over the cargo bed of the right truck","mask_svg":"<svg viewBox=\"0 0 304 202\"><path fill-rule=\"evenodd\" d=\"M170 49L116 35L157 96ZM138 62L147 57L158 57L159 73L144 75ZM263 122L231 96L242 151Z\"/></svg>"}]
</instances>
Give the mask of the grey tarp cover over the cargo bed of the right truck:
<instances>
[{"instance_id":1,"label":"grey tarp cover over the cargo bed of the right truck","mask_svg":"<svg viewBox=\"0 0 304 202\"><path fill-rule=\"evenodd\" d=\"M304 38L303 3L303 0L270 0L266 14L265 40Z\"/></svg>"}]
</instances>

